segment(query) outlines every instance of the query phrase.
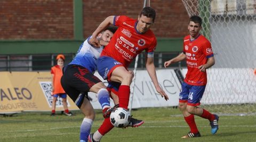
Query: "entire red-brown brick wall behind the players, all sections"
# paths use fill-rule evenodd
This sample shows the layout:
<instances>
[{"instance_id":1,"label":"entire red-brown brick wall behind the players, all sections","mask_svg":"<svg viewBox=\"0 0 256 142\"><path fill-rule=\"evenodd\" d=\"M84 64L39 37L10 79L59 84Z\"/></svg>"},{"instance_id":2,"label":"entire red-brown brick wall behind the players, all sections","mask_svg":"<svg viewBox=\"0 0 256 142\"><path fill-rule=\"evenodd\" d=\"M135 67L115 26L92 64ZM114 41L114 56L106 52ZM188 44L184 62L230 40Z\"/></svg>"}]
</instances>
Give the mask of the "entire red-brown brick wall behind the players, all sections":
<instances>
[{"instance_id":1,"label":"entire red-brown brick wall behind the players, all sections","mask_svg":"<svg viewBox=\"0 0 256 142\"><path fill-rule=\"evenodd\" d=\"M187 32L188 14L179 0L151 0L157 16L152 28L157 37L180 38ZM143 0L83 0L84 37L109 15L135 19ZM73 0L1 0L0 40L73 39Z\"/></svg>"}]
</instances>

